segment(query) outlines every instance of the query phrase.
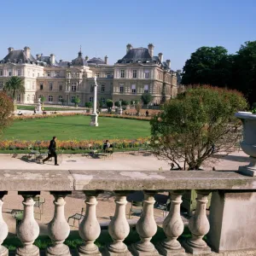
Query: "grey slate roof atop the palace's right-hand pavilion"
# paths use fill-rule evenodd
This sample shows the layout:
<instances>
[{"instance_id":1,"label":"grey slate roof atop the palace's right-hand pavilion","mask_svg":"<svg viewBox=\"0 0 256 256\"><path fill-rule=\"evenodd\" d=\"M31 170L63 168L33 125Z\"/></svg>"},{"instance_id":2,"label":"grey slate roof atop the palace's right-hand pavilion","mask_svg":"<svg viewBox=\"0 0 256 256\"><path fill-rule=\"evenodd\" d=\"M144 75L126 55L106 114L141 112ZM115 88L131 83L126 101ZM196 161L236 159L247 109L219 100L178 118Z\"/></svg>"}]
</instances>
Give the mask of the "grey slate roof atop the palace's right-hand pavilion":
<instances>
[{"instance_id":1,"label":"grey slate roof atop the palace's right-hand pavilion","mask_svg":"<svg viewBox=\"0 0 256 256\"><path fill-rule=\"evenodd\" d=\"M133 48L130 49L126 55L117 63L161 63L158 56L151 56L148 48Z\"/></svg>"}]
</instances>

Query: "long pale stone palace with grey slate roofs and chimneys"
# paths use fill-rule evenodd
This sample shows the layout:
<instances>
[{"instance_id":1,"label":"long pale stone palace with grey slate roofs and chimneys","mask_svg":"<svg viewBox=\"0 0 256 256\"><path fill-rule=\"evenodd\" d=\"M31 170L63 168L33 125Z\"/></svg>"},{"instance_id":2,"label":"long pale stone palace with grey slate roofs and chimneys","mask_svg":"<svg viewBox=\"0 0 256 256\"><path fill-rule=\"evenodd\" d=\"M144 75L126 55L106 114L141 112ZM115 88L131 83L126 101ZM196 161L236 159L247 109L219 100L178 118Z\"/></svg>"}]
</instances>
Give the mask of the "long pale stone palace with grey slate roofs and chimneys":
<instances>
[{"instance_id":1,"label":"long pale stone palace with grey slate roofs and chimneys","mask_svg":"<svg viewBox=\"0 0 256 256\"><path fill-rule=\"evenodd\" d=\"M160 103L177 95L177 73L171 69L171 61L163 61L163 54L154 56L154 45L148 48L126 46L126 55L114 65L108 64L108 56L101 58L83 57L81 50L73 61L56 61L55 55L31 55L29 47L15 50L0 61L0 90L11 76L24 79L26 93L17 96L17 102L35 103L44 96L45 103L72 104L74 97L80 105L93 102L93 84L96 75L98 101L103 105L107 99L113 102L140 100L144 92L154 96L153 102Z\"/></svg>"}]
</instances>

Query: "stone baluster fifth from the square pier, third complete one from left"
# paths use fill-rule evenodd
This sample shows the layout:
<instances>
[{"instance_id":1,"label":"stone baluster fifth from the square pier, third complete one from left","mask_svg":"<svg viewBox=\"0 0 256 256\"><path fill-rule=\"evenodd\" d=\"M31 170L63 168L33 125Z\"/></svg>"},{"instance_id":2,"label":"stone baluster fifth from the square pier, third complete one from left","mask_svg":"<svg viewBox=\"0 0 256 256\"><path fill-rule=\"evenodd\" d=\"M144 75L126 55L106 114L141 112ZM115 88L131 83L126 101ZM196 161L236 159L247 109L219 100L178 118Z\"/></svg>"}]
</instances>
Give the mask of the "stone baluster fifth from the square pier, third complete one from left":
<instances>
[{"instance_id":1,"label":"stone baluster fifth from the square pier, third complete one from left","mask_svg":"<svg viewBox=\"0 0 256 256\"><path fill-rule=\"evenodd\" d=\"M101 234L101 227L96 218L96 196L100 191L84 191L86 195L86 212L83 221L79 225L79 234L84 240L84 245L78 248L79 256L101 255L94 241Z\"/></svg>"}]
</instances>

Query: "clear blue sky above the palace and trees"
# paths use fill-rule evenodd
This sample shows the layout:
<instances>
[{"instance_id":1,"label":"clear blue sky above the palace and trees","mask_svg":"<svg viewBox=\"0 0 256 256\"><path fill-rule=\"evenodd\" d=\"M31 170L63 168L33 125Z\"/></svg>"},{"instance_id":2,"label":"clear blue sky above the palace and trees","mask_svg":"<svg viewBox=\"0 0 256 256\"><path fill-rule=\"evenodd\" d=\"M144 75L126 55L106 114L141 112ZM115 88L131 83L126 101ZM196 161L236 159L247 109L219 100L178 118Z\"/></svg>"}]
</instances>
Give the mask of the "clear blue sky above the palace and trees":
<instances>
[{"instance_id":1,"label":"clear blue sky above the palace and trees","mask_svg":"<svg viewBox=\"0 0 256 256\"><path fill-rule=\"evenodd\" d=\"M256 40L255 0L8 0L1 1L0 60L8 48L29 46L32 55L55 54L71 61L83 55L114 64L126 44L162 52L182 69L201 46L235 53Z\"/></svg>"}]
</instances>

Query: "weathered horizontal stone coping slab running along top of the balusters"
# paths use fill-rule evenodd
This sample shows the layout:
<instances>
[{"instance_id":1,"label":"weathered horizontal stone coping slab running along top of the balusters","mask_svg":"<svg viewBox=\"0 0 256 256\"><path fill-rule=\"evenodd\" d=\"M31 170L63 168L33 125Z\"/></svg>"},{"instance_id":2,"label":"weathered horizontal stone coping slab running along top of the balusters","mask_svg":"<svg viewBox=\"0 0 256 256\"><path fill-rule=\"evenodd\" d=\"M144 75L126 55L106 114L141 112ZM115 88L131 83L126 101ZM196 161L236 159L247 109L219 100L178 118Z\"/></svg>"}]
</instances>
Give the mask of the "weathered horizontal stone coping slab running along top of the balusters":
<instances>
[{"instance_id":1,"label":"weathered horizontal stone coping slab running along top of the balusters","mask_svg":"<svg viewBox=\"0 0 256 256\"><path fill-rule=\"evenodd\" d=\"M256 177L234 171L61 171L3 170L0 191L61 190L256 190Z\"/></svg>"}]
</instances>

